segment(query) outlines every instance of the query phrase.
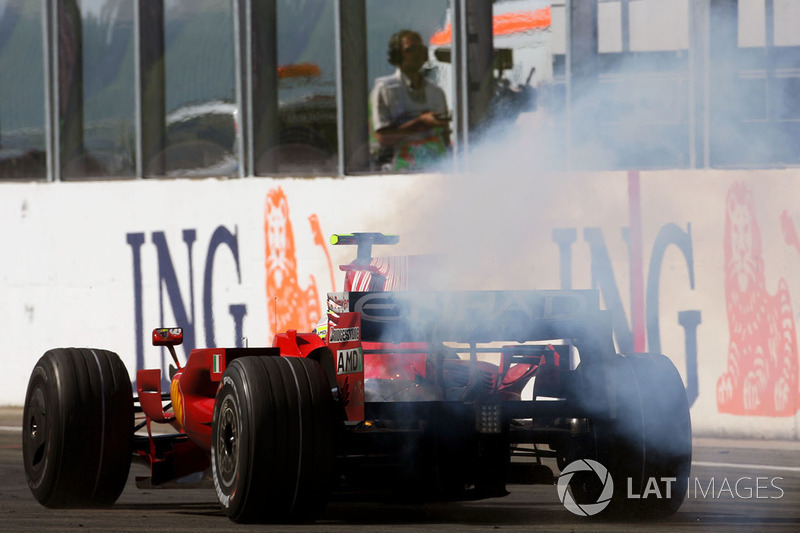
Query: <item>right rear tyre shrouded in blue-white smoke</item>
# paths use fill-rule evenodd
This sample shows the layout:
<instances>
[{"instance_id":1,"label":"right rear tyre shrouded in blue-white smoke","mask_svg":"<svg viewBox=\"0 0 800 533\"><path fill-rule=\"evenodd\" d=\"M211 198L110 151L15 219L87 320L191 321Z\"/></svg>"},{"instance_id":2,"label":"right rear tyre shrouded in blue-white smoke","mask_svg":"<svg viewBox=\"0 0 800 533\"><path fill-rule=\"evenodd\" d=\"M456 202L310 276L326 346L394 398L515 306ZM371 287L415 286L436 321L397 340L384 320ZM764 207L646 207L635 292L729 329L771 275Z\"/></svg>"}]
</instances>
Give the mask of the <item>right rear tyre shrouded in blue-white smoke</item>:
<instances>
[{"instance_id":1,"label":"right rear tyre shrouded in blue-white smoke","mask_svg":"<svg viewBox=\"0 0 800 533\"><path fill-rule=\"evenodd\" d=\"M591 458L608 469L614 486L603 514L669 516L686 497L692 462L683 381L672 361L660 354L617 356L610 370L616 416L606 413L592 420L596 448ZM571 488L578 503L594 503L601 499L603 483L594 472L580 472Z\"/></svg>"}]
</instances>

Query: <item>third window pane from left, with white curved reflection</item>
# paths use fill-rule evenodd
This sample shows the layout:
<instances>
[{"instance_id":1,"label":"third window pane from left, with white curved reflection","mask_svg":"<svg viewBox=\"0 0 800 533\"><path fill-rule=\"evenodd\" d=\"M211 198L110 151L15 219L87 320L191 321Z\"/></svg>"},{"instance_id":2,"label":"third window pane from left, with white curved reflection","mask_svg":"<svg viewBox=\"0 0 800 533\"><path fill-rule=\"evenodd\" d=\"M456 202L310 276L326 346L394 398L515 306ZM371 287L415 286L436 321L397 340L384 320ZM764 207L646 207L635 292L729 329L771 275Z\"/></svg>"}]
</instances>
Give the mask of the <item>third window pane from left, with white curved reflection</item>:
<instances>
[{"instance_id":1,"label":"third window pane from left, with white curved reflection","mask_svg":"<svg viewBox=\"0 0 800 533\"><path fill-rule=\"evenodd\" d=\"M168 176L238 176L233 6L165 0Z\"/></svg>"}]
</instances>

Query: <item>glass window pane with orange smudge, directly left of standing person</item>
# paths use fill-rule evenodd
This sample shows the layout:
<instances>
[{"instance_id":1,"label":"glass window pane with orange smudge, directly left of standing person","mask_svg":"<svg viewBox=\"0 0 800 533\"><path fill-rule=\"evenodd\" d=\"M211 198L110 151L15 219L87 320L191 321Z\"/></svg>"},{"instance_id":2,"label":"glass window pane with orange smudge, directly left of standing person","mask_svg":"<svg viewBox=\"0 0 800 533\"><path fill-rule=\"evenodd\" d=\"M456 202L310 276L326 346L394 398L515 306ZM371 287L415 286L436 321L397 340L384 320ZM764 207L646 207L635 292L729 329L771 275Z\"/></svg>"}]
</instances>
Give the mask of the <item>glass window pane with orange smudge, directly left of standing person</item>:
<instances>
[{"instance_id":1,"label":"glass window pane with orange smudge, directly left of standing person","mask_svg":"<svg viewBox=\"0 0 800 533\"><path fill-rule=\"evenodd\" d=\"M335 3L279 0L277 12L278 172L336 174Z\"/></svg>"}]
</instances>

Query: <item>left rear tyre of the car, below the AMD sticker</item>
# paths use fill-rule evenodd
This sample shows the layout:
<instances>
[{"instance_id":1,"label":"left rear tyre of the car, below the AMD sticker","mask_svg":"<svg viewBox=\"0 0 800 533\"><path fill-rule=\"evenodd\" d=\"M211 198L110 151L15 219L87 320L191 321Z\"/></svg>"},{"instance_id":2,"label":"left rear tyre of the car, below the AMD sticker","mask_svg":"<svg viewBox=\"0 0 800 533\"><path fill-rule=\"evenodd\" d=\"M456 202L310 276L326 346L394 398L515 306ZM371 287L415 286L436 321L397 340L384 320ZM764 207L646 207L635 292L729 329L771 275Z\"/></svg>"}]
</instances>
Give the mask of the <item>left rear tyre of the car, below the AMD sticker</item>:
<instances>
[{"instance_id":1,"label":"left rear tyre of the car, below the AMD sticker","mask_svg":"<svg viewBox=\"0 0 800 533\"><path fill-rule=\"evenodd\" d=\"M214 404L211 466L235 522L314 520L330 492L334 404L320 364L299 357L242 357Z\"/></svg>"}]
</instances>

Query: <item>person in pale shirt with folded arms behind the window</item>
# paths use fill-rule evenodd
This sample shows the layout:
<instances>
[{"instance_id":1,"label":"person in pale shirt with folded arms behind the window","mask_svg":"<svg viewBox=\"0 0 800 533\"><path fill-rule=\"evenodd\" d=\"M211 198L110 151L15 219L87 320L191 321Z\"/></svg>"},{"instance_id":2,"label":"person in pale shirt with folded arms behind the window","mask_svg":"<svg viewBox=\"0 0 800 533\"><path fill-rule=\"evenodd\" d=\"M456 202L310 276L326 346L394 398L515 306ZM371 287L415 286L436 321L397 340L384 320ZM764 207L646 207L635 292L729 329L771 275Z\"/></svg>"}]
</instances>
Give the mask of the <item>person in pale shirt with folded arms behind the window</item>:
<instances>
[{"instance_id":1,"label":"person in pale shirt with folded arms behind the window","mask_svg":"<svg viewBox=\"0 0 800 533\"><path fill-rule=\"evenodd\" d=\"M382 170L419 169L440 159L450 146L444 91L426 80L428 48L420 35L400 30L389 39L394 74L375 80L370 96L372 130Z\"/></svg>"}]
</instances>

